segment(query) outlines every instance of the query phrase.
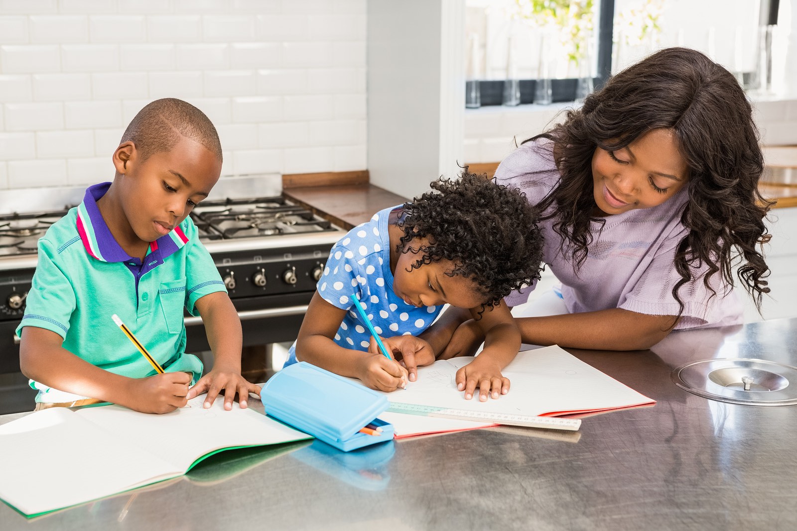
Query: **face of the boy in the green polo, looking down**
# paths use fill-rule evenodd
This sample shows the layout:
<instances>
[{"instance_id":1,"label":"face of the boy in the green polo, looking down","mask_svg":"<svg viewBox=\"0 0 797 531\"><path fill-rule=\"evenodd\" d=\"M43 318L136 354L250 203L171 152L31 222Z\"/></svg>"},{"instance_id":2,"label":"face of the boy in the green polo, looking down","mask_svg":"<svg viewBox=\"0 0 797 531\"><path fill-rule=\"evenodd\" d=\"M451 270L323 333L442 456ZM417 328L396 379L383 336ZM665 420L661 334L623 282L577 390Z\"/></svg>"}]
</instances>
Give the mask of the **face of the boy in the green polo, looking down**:
<instances>
[{"instance_id":1,"label":"face of the boy in the green polo, looking down","mask_svg":"<svg viewBox=\"0 0 797 531\"><path fill-rule=\"evenodd\" d=\"M186 138L144 161L132 143L124 143L117 148L114 163L117 173L123 175L120 197L124 217L130 231L147 242L182 223L207 197L222 170L216 155Z\"/></svg>"}]
</instances>

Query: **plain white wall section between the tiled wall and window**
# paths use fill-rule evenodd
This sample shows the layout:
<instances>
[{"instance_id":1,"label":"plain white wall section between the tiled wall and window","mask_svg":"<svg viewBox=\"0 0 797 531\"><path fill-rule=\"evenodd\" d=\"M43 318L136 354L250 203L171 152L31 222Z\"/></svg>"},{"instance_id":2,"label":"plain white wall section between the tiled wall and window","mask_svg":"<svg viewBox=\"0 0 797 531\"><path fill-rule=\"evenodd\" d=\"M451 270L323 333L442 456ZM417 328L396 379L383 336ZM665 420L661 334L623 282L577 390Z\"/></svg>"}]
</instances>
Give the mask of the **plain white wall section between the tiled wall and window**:
<instances>
[{"instance_id":1,"label":"plain white wall section between the tiled wall and window","mask_svg":"<svg viewBox=\"0 0 797 531\"><path fill-rule=\"evenodd\" d=\"M462 162L465 2L368 2L368 170L414 197Z\"/></svg>"}]
</instances>

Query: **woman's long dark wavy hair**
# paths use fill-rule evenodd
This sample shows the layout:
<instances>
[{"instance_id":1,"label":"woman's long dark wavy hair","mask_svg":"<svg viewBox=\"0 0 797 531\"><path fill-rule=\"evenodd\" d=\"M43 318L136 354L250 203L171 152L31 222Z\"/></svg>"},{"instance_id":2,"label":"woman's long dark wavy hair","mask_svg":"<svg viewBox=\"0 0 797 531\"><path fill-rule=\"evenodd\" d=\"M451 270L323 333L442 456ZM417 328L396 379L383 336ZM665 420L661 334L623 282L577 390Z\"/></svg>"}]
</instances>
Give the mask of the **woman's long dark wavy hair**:
<instances>
[{"instance_id":1,"label":"woman's long dark wavy hair","mask_svg":"<svg viewBox=\"0 0 797 531\"><path fill-rule=\"evenodd\" d=\"M540 219L556 220L553 228L562 236L562 252L568 247L575 267L580 267L595 219L595 149L619 150L659 128L674 132L689 167L689 200L681 215L689 233L675 254L681 275L673 287L678 318L685 306L678 290L703 264L708 266L703 283L713 297L717 292L709 279L720 273L732 287L732 267L739 262L740 282L760 312L763 294L769 293L769 268L756 245L771 237L764 225L771 202L758 190L764 156L744 91L728 70L703 53L662 49L613 76L587 96L583 107L567 111L564 123L525 141L552 140L562 177L538 205L546 213Z\"/></svg>"}]
</instances>

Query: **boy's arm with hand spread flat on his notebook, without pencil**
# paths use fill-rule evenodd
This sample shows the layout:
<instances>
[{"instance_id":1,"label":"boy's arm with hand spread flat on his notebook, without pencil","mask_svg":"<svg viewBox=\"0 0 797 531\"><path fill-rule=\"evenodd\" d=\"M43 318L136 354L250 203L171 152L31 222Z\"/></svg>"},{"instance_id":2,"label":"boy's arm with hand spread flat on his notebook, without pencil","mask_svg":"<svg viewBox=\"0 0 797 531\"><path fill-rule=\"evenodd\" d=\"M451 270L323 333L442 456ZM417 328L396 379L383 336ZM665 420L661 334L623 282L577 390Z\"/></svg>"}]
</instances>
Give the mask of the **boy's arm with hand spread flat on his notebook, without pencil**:
<instances>
[{"instance_id":1,"label":"boy's arm with hand spread flat on his notebook, without pencil","mask_svg":"<svg viewBox=\"0 0 797 531\"><path fill-rule=\"evenodd\" d=\"M224 391L224 408L233 408L238 393L238 403L246 407L252 392L260 395L260 385L250 384L241 376L241 319L226 291L215 291L197 299L196 308L205 325L207 342L213 351L213 369L190 388L187 400L207 392L204 406L210 408L219 392Z\"/></svg>"}]
</instances>

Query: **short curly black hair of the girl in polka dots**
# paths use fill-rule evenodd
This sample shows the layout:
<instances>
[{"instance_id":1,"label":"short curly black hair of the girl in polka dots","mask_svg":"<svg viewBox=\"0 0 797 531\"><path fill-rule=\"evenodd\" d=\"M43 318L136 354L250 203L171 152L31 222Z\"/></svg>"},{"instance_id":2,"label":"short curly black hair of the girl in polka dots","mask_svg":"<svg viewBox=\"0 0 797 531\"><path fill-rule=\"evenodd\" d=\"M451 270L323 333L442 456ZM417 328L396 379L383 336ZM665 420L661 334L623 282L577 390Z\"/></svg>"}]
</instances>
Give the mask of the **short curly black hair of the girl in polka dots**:
<instances>
[{"instance_id":1,"label":"short curly black hair of the girl in polka dots","mask_svg":"<svg viewBox=\"0 0 797 531\"><path fill-rule=\"evenodd\" d=\"M496 306L510 292L540 279L543 236L537 210L520 189L468 172L458 179L440 178L426 192L404 204L396 250L418 253L410 271L424 264L450 260L446 275L462 275L477 283L485 306ZM428 238L413 248L412 240Z\"/></svg>"}]
</instances>

